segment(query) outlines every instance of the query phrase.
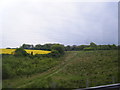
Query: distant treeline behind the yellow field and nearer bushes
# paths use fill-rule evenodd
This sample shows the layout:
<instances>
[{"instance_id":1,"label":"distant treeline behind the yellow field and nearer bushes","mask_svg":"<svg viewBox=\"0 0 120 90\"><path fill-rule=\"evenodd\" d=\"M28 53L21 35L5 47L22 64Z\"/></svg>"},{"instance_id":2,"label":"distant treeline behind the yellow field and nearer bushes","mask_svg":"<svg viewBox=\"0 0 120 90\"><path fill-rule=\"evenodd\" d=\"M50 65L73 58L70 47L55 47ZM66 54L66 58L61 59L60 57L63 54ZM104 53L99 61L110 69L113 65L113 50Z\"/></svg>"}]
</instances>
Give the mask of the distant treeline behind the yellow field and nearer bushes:
<instances>
[{"instance_id":1,"label":"distant treeline behind the yellow field and nearer bushes","mask_svg":"<svg viewBox=\"0 0 120 90\"><path fill-rule=\"evenodd\" d=\"M23 44L21 48L24 49L33 49L33 50L48 50L51 51L51 47L55 44L37 44L37 45L30 45L30 44ZM112 45L97 45L94 42L91 42L89 45L63 45L65 51L80 51L80 50L114 50L117 49L118 46L115 44Z\"/></svg>"}]
</instances>

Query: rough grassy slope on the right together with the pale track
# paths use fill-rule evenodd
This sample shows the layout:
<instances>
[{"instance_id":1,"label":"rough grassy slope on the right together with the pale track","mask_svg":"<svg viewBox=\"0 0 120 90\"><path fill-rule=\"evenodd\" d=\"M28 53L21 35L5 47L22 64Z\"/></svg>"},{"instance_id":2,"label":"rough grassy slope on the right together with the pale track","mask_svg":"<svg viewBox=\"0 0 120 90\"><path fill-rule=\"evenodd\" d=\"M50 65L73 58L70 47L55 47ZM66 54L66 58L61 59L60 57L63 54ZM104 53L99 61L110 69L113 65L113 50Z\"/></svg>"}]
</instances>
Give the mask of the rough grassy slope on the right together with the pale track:
<instances>
[{"instance_id":1,"label":"rough grassy slope on the right together with the pale track","mask_svg":"<svg viewBox=\"0 0 120 90\"><path fill-rule=\"evenodd\" d=\"M119 82L117 50L70 51L55 61L51 62L52 67L29 78L4 80L4 87L84 88ZM44 62L49 63L49 60ZM47 65L50 63L41 68Z\"/></svg>"}]
</instances>

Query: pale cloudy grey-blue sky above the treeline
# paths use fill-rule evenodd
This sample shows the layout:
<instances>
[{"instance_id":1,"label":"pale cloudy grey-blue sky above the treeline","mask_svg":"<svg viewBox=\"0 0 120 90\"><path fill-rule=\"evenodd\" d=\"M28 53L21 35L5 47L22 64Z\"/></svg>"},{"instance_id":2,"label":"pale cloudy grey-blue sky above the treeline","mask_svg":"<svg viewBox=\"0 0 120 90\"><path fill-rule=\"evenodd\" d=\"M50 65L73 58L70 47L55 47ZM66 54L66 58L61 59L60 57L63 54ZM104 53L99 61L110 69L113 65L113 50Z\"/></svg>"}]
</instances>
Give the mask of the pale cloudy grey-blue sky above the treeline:
<instances>
[{"instance_id":1,"label":"pale cloudy grey-blue sky above the treeline","mask_svg":"<svg viewBox=\"0 0 120 90\"><path fill-rule=\"evenodd\" d=\"M11 2L0 10L2 45L118 43L117 2Z\"/></svg>"}]
</instances>

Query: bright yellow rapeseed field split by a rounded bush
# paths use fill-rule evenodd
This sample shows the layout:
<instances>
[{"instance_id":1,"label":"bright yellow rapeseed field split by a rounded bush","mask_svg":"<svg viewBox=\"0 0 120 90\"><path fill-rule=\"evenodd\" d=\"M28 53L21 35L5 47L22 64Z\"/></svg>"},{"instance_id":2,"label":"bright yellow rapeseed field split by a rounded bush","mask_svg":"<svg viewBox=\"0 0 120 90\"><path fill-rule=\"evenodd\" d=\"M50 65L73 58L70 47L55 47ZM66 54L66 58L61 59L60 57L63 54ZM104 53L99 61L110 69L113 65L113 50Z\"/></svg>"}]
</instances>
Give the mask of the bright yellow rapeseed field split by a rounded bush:
<instances>
[{"instance_id":1,"label":"bright yellow rapeseed field split by a rounded bush","mask_svg":"<svg viewBox=\"0 0 120 90\"><path fill-rule=\"evenodd\" d=\"M0 49L0 54L14 54L14 51L15 51L15 49ZM28 49L25 49L25 51L29 54L31 54L31 52L33 52L33 55L51 53L51 51L44 51L44 50L28 50Z\"/></svg>"}]
</instances>

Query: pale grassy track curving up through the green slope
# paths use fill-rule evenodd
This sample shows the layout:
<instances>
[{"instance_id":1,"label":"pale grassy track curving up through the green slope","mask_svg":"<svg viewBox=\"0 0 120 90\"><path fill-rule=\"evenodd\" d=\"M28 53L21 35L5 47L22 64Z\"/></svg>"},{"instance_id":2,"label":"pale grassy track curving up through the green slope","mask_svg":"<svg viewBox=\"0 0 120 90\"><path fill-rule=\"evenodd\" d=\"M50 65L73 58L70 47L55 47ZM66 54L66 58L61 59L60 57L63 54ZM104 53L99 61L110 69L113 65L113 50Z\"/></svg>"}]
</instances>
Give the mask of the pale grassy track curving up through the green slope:
<instances>
[{"instance_id":1,"label":"pale grassy track curving up through the green slope","mask_svg":"<svg viewBox=\"0 0 120 90\"><path fill-rule=\"evenodd\" d=\"M70 55L70 57L68 57L68 55ZM53 58L54 61L47 62L45 64L45 66L49 67L50 63L53 63L54 66L52 66L51 68L48 68L46 71L44 71L42 73L38 72L36 74L30 75L29 77L27 77L26 75L23 75L21 77L15 77L15 78L3 80L3 87L4 88L24 88L26 85L30 85L31 83L35 83L35 80L38 80L41 78L46 78L47 76L51 76L52 74L56 73L59 69L61 69L62 66L65 66L66 63L69 62L69 58L72 58L72 56L73 56L73 53L67 52L64 56L62 56L60 58ZM6 59L11 60L11 58L9 58L9 59L4 58L4 60L6 60ZM13 57L12 57L12 59L13 59ZM44 59L44 62L45 62L45 60L46 59ZM39 61L41 61L41 60L39 59ZM32 61L29 61L29 62L32 62ZM41 62L39 62L38 65L44 66L41 64ZM39 67L39 68L41 68L41 67Z\"/></svg>"}]
</instances>

